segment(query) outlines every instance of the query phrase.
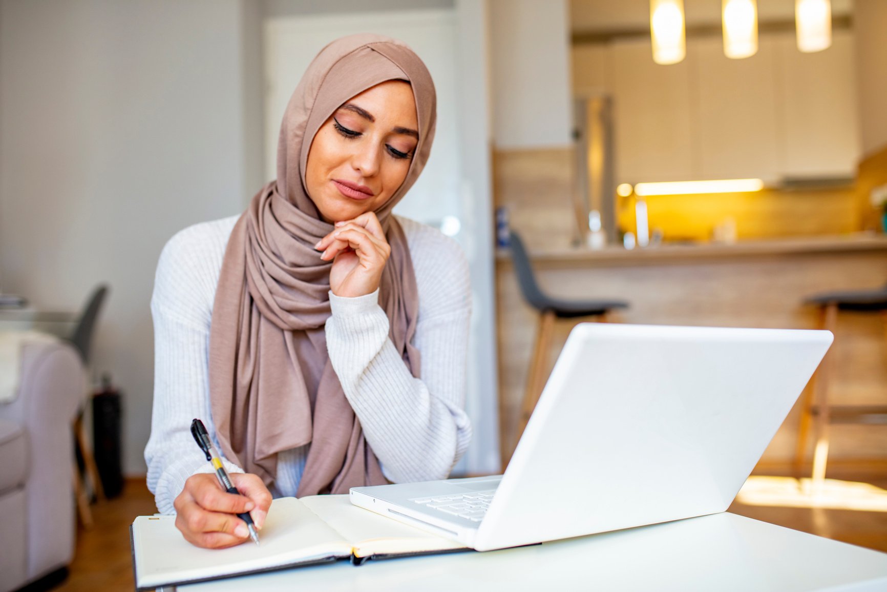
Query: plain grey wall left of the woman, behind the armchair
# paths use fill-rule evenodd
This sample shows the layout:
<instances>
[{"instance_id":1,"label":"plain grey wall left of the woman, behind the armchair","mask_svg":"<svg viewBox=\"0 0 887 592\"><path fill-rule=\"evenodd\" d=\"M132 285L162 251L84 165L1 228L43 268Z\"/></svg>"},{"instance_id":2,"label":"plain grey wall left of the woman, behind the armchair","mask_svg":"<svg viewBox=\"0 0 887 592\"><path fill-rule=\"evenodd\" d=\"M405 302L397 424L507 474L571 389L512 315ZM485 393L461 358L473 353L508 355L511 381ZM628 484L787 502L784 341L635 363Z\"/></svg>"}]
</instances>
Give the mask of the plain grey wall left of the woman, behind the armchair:
<instances>
[{"instance_id":1,"label":"plain grey wall left of the woman, behind the armchair","mask_svg":"<svg viewBox=\"0 0 887 592\"><path fill-rule=\"evenodd\" d=\"M93 367L125 391L130 474L150 430L157 257L261 178L244 156L245 3L0 0L3 288L75 311L111 285Z\"/></svg>"}]
</instances>

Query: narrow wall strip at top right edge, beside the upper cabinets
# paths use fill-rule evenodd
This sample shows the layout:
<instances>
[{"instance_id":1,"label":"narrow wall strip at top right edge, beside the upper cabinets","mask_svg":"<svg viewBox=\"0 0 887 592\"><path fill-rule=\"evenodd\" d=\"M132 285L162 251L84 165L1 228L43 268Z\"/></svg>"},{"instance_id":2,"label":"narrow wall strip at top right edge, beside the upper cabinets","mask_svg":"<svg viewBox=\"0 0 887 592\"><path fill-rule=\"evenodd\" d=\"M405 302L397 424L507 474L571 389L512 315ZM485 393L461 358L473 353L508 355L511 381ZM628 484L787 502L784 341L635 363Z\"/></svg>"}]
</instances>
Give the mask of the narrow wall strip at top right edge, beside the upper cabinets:
<instances>
[{"instance_id":1,"label":"narrow wall strip at top right edge, beside the upper cabinets","mask_svg":"<svg viewBox=\"0 0 887 592\"><path fill-rule=\"evenodd\" d=\"M854 0L862 154L887 146L887 2Z\"/></svg>"}]
</instances>

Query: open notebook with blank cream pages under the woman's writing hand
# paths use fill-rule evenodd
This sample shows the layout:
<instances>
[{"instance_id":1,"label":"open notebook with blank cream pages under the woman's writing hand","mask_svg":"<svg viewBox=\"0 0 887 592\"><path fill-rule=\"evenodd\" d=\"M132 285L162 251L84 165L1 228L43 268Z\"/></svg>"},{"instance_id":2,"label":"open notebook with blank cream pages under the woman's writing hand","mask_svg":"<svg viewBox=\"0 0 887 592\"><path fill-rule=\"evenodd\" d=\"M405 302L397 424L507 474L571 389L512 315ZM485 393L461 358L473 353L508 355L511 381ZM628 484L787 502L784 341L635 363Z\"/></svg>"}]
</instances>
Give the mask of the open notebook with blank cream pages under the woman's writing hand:
<instances>
[{"instance_id":1,"label":"open notebook with blank cream pages under the woman's writing hand","mask_svg":"<svg viewBox=\"0 0 887 592\"><path fill-rule=\"evenodd\" d=\"M130 526L136 588L150 589L350 558L367 559L466 549L458 542L353 506L348 495L279 498L261 544L199 549L178 532L173 516L139 516Z\"/></svg>"}]
</instances>

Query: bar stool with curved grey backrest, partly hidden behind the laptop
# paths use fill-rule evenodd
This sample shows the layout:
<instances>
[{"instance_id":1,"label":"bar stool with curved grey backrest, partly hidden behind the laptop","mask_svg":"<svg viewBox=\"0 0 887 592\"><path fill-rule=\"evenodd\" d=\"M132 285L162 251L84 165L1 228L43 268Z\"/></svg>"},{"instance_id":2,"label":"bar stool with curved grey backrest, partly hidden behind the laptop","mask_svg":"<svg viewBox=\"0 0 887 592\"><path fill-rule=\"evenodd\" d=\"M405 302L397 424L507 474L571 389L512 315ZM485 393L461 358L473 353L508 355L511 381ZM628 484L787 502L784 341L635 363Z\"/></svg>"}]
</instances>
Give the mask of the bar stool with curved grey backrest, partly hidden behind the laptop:
<instances>
[{"instance_id":1,"label":"bar stool with curved grey backrest, partly hidden behind the laptop","mask_svg":"<svg viewBox=\"0 0 887 592\"><path fill-rule=\"evenodd\" d=\"M536 330L536 343L533 345L533 357L530 359L530 371L527 375L527 387L524 391L521 405L521 418L517 429L517 438L514 446L521 439L530 415L536 407L542 388L545 386L543 375L546 365L548 348L551 344L552 331L555 319L575 319L577 317L596 317L598 322L608 322L607 315L614 309L627 308L628 303L623 300L561 300L546 295L539 288L536 275L530 265L530 256L523 246L521 237L512 232L510 236L511 257L514 261L514 272L517 273L518 284L521 293L530 304L539 312L538 328Z\"/></svg>"}]
</instances>

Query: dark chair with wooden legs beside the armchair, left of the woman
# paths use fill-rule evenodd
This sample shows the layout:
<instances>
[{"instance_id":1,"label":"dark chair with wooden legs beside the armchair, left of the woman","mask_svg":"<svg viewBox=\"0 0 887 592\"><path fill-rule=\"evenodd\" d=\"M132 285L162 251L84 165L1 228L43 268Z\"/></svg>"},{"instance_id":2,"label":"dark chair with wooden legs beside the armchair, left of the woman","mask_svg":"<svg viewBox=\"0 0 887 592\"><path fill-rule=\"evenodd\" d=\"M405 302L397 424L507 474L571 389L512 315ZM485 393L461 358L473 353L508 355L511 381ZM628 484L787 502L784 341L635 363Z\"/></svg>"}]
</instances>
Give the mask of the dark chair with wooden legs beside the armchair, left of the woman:
<instances>
[{"instance_id":1,"label":"dark chair with wooden legs beside the armchair, left of the woman","mask_svg":"<svg viewBox=\"0 0 887 592\"><path fill-rule=\"evenodd\" d=\"M67 338L67 341L74 345L75 350L80 354L84 367L89 366L92 335L95 333L98 313L101 312L107 293L108 287L104 284L99 285L92 291L92 294L90 294L89 299L86 301L86 306L83 307L80 319L77 320L74 332ZM83 435L83 413L86 409L86 397L88 397L88 393L84 393L84 399L77 411L73 426L75 451L74 485L77 514L82 525L89 528L92 525L92 512L90 511L89 500L82 484L81 464L90 477L92 493L96 499L105 499L105 492L102 488L102 480L98 474L95 456L93 456L90 446L87 446L86 437Z\"/></svg>"}]
</instances>

